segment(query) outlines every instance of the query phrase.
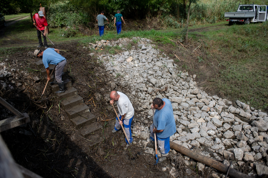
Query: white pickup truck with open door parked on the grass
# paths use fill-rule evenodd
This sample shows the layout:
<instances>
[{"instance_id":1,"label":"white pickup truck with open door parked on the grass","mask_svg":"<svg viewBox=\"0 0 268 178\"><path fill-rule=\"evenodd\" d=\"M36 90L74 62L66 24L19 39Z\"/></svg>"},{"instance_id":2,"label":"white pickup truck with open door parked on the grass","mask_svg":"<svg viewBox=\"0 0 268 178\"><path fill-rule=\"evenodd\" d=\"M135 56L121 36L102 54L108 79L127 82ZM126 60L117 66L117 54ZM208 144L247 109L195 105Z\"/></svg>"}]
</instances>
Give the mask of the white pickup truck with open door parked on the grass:
<instances>
[{"instance_id":1,"label":"white pickup truck with open door parked on the grass","mask_svg":"<svg viewBox=\"0 0 268 178\"><path fill-rule=\"evenodd\" d=\"M225 12L224 17L229 18L229 25L235 22L250 24L250 22L265 22L268 20L267 6L263 5L239 5L236 12Z\"/></svg>"}]
</instances>

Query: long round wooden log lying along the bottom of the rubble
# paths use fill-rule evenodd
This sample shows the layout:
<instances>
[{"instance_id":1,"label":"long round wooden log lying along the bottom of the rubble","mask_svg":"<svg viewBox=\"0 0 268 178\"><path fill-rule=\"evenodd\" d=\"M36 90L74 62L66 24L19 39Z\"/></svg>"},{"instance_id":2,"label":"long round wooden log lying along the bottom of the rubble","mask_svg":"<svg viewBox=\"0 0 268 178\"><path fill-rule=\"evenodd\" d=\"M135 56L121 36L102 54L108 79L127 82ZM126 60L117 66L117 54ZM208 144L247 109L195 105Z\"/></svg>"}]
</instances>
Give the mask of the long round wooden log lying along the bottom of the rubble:
<instances>
[{"instance_id":1,"label":"long round wooden log lying along the bottom of the rubble","mask_svg":"<svg viewBox=\"0 0 268 178\"><path fill-rule=\"evenodd\" d=\"M196 153L188 148L185 148L184 146L178 145L172 141L169 141L169 143L170 143L170 148L180 152L181 154L189 156L189 157L195 159L196 161L202 162L203 164L211 166L214 169L217 169L218 171L221 171L223 173L227 172L227 169L228 169L227 165L225 165L221 162L218 162L216 160L213 160L211 158L208 158L206 156L203 156L201 154L198 154L198 153ZM229 176L234 177L234 178L252 178L251 176L244 174L242 172L239 172L233 168L230 168Z\"/></svg>"}]
</instances>

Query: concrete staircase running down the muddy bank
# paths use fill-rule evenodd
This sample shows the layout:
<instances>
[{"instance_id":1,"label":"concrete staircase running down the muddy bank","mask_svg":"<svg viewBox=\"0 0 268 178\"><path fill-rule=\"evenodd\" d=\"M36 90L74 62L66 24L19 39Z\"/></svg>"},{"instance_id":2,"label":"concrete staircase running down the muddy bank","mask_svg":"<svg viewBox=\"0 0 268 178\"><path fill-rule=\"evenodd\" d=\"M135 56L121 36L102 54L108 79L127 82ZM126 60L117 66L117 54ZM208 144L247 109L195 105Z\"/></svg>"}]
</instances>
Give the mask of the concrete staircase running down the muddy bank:
<instances>
[{"instance_id":1,"label":"concrete staircase running down the muddy bank","mask_svg":"<svg viewBox=\"0 0 268 178\"><path fill-rule=\"evenodd\" d=\"M44 68L42 60L35 62L38 70L41 70L41 74L47 78L46 69ZM50 73L55 65L49 65ZM66 74L62 75L62 80L64 82L65 92L60 94L55 94L55 91L59 90L58 85L50 85L51 91L56 96L60 106L65 110L67 116L72 122L73 126L78 130L82 137L86 138L92 133L98 130L102 130L102 126L96 122L96 117L90 113L90 109L84 104L84 100L78 95L77 89L72 86L72 82L66 78ZM51 75L50 82L53 81L53 75ZM48 88L48 87L47 87ZM67 88L67 89L66 89ZM95 134L94 134L95 135ZM96 139L94 139L96 137ZM91 136L90 140L92 143L88 145L89 148L93 148L103 141L104 138L99 135Z\"/></svg>"}]
</instances>

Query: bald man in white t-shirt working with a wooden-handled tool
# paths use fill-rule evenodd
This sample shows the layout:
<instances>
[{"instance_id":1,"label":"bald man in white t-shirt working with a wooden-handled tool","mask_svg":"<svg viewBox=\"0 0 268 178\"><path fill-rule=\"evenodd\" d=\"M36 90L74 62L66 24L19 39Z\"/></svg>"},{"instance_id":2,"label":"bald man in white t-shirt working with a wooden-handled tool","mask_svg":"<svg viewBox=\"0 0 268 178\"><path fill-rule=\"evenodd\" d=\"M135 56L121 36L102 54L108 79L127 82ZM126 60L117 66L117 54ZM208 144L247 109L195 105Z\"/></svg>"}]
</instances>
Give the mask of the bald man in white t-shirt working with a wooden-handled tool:
<instances>
[{"instance_id":1,"label":"bald man in white t-shirt working with a wooden-handled tool","mask_svg":"<svg viewBox=\"0 0 268 178\"><path fill-rule=\"evenodd\" d=\"M116 133L121 128L120 124L123 123L129 142L132 143L133 138L132 138L130 127L131 127L132 119L134 117L134 108L130 100L124 93L121 93L119 91L117 92L112 91L110 94L110 98L111 98L110 100L111 105L113 105L114 101L116 101L117 108L119 111L119 115L118 115L119 118L116 118L116 124L114 126L114 130L112 131L112 133ZM125 141L127 144L129 144L126 138L125 138Z\"/></svg>"}]
</instances>

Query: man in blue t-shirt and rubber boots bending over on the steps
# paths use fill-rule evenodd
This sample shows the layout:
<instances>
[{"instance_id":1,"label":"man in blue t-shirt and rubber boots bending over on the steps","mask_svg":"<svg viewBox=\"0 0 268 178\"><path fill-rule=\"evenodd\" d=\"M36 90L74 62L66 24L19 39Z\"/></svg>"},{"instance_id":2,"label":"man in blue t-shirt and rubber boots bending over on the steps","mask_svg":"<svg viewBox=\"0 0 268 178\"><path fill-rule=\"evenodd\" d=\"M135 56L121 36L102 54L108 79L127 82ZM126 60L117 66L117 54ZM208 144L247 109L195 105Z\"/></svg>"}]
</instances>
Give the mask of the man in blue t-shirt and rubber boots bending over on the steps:
<instances>
[{"instance_id":1,"label":"man in blue t-shirt and rubber boots bending over on the steps","mask_svg":"<svg viewBox=\"0 0 268 178\"><path fill-rule=\"evenodd\" d=\"M47 48L45 51L41 51L36 49L34 51L34 55L35 57L40 57L43 58L43 64L46 68L46 72L47 72L47 80L50 80L50 69L49 69L49 64L53 64L56 65L55 67L55 73L54 73L54 80L53 82L50 82L51 85L59 85L59 91L56 91L55 93L64 93L64 82L62 81L62 73L63 73L63 69L66 65L66 59L64 57L62 57L59 54L59 50L58 49L54 49L54 48Z\"/></svg>"}]
</instances>

